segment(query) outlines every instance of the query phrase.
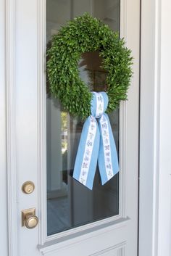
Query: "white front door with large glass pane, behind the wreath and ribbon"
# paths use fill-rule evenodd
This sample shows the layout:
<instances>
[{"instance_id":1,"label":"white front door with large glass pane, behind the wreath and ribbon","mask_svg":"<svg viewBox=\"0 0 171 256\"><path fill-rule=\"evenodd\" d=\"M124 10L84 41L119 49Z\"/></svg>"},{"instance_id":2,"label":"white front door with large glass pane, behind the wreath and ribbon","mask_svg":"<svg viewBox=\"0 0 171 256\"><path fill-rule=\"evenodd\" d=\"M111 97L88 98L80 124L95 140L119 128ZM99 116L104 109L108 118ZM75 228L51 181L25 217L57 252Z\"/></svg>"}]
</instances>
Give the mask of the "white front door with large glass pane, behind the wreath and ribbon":
<instances>
[{"instance_id":1,"label":"white front door with large glass pane, behind the wreath and ribbon","mask_svg":"<svg viewBox=\"0 0 171 256\"><path fill-rule=\"evenodd\" d=\"M13 161L9 166L9 255L137 256L139 1L15 0L7 8L12 53L8 65L14 79L9 80L11 91L7 92ZM72 179L83 124L64 112L46 85L46 45L51 35L84 12L120 30L134 57L128 101L110 115L120 173L101 186L96 170L93 191ZM97 83L101 86L105 79L98 54L85 54L83 59L86 68L79 66L81 78L98 90ZM35 186L30 194L23 191L26 181ZM33 208L38 225L22 226L22 211Z\"/></svg>"}]
</instances>

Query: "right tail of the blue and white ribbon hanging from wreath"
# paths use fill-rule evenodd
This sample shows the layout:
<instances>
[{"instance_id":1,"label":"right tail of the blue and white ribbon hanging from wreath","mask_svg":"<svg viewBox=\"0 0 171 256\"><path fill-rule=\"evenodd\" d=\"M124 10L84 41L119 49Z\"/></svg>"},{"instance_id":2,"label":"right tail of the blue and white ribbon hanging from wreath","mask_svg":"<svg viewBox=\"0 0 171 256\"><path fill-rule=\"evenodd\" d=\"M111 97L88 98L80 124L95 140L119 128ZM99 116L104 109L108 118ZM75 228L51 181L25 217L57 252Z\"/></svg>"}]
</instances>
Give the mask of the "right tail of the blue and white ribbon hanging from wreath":
<instances>
[{"instance_id":1,"label":"right tail of the blue and white ribbon hanging from wreath","mask_svg":"<svg viewBox=\"0 0 171 256\"><path fill-rule=\"evenodd\" d=\"M119 171L117 149L114 142L109 117L104 114L99 119L100 147L99 147L99 171L101 183L104 185Z\"/></svg>"}]
</instances>

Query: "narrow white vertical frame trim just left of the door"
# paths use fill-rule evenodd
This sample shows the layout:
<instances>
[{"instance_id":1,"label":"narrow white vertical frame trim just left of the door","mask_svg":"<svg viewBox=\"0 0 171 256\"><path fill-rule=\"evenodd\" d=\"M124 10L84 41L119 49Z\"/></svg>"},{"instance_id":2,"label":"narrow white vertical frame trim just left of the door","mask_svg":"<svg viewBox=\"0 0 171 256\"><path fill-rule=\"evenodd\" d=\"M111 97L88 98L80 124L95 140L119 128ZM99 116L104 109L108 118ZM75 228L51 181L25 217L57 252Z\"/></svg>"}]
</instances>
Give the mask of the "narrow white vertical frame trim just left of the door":
<instances>
[{"instance_id":1,"label":"narrow white vertical frame trim just left of the door","mask_svg":"<svg viewBox=\"0 0 171 256\"><path fill-rule=\"evenodd\" d=\"M15 1L6 1L7 15L7 185L9 256L17 256L17 194L15 147Z\"/></svg>"}]
</instances>

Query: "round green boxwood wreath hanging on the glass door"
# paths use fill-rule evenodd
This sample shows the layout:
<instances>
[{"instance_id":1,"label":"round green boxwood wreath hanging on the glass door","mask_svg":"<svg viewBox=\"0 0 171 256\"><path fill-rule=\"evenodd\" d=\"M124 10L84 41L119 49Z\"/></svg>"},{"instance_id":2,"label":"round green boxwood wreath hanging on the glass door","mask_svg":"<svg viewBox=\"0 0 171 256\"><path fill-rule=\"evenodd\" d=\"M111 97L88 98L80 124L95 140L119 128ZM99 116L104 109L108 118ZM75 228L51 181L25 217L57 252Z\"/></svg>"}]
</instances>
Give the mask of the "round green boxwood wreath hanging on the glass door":
<instances>
[{"instance_id":1,"label":"round green boxwood wreath hanging on the glass door","mask_svg":"<svg viewBox=\"0 0 171 256\"><path fill-rule=\"evenodd\" d=\"M107 112L115 110L127 99L132 76L133 57L125 41L87 13L67 22L51 39L47 51L47 77L51 95L59 98L64 108L74 116L88 117L91 110L91 91L79 76L81 54L99 51L102 68L107 71Z\"/></svg>"}]
</instances>

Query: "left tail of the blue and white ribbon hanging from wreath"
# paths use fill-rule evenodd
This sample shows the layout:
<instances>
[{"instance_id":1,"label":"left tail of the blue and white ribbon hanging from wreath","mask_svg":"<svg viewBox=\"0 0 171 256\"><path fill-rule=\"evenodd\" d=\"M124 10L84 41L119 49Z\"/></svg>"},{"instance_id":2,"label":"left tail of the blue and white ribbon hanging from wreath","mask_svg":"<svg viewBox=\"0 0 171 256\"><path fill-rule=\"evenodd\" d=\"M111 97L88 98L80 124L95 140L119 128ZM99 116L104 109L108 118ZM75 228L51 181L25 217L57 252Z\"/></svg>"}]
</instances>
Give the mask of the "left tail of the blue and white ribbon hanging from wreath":
<instances>
[{"instance_id":1,"label":"left tail of the blue and white ribbon hanging from wreath","mask_svg":"<svg viewBox=\"0 0 171 256\"><path fill-rule=\"evenodd\" d=\"M98 123L95 117L90 116L83 125L73 171L73 178L88 187L88 189L93 189L99 141Z\"/></svg>"}]
</instances>

